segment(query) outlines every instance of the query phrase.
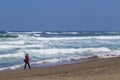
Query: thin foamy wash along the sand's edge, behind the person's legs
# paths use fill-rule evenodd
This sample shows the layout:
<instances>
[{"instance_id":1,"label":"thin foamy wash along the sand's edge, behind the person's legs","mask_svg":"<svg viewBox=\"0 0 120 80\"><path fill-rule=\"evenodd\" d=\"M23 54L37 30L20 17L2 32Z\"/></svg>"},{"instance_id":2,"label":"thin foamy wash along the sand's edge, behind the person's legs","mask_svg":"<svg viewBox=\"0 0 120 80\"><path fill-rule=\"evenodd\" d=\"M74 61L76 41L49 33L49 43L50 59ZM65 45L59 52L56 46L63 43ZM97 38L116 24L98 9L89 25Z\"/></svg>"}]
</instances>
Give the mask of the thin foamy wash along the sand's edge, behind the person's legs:
<instances>
[{"instance_id":1,"label":"thin foamy wash along the sand's edge, behind the person's legs","mask_svg":"<svg viewBox=\"0 0 120 80\"><path fill-rule=\"evenodd\" d=\"M94 59L100 59L98 56L91 56L91 57L86 57L86 58L81 58L81 59L70 59L70 60L63 60L63 61L58 61L58 62L53 62L53 63L42 63L42 64L31 64L32 68L42 68L42 67L53 67L53 66L61 66L61 65L67 65L67 64L75 64L75 63L83 63L83 62L87 62L90 60L94 60ZM31 63L31 62L30 62ZM28 66L27 66L28 67ZM18 65L15 66L11 66L11 67L4 67L3 69L0 69L1 71L9 71L9 70L22 70L24 69L24 62L21 66L18 67Z\"/></svg>"}]
</instances>

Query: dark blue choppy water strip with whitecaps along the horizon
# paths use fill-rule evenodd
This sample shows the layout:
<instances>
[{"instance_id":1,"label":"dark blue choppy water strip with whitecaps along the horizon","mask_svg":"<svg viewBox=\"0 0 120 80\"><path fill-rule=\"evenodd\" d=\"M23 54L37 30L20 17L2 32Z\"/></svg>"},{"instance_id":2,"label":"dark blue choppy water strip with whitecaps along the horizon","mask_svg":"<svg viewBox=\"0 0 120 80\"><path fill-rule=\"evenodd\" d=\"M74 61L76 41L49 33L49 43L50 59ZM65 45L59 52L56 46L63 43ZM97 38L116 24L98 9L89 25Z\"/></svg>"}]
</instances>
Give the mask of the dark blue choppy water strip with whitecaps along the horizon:
<instances>
[{"instance_id":1,"label":"dark blue choppy water strip with whitecaps along the horizon","mask_svg":"<svg viewBox=\"0 0 120 80\"><path fill-rule=\"evenodd\" d=\"M87 32L60 32L60 31L46 31L46 32L2 32L0 38L16 38L16 37L90 37L90 36L119 36L120 32L99 32L99 31L87 31Z\"/></svg>"}]
</instances>

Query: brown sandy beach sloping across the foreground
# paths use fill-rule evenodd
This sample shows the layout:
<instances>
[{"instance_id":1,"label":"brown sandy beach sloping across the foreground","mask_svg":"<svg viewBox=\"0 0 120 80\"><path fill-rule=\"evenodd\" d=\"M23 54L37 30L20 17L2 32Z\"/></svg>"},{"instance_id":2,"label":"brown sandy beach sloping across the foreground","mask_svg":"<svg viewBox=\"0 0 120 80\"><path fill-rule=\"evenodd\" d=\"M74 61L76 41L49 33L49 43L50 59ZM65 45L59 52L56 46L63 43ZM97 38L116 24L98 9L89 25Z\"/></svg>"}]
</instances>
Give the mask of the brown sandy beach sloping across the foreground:
<instances>
[{"instance_id":1,"label":"brown sandy beach sloping across the foreground","mask_svg":"<svg viewBox=\"0 0 120 80\"><path fill-rule=\"evenodd\" d=\"M0 80L120 80L120 57L0 72Z\"/></svg>"}]
</instances>

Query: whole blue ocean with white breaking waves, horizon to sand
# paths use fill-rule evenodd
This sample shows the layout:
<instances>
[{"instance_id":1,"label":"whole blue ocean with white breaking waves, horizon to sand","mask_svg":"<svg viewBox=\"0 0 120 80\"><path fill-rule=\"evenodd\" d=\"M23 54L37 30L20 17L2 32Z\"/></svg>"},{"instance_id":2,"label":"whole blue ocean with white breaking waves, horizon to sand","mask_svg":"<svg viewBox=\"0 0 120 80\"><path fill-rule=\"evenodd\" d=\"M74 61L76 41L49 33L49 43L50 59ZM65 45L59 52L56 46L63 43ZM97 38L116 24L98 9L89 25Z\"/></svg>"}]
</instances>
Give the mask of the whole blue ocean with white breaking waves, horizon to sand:
<instances>
[{"instance_id":1,"label":"whole blue ocean with white breaking waves, horizon to sand","mask_svg":"<svg viewBox=\"0 0 120 80\"><path fill-rule=\"evenodd\" d=\"M120 56L120 32L0 32L0 71L23 68L28 53L32 67L69 64L97 56Z\"/></svg>"}]
</instances>

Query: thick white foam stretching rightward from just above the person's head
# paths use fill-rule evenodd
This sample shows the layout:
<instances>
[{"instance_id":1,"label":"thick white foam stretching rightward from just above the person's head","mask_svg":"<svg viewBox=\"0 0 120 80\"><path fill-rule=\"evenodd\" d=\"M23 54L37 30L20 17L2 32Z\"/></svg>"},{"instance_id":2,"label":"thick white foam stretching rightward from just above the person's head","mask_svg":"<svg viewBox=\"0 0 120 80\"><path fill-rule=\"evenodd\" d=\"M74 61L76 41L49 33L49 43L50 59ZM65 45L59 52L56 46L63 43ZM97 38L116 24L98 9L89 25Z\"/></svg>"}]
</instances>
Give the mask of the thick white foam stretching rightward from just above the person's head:
<instances>
[{"instance_id":1,"label":"thick white foam stretching rightward from just above the person's head","mask_svg":"<svg viewBox=\"0 0 120 80\"><path fill-rule=\"evenodd\" d=\"M75 54L75 53L97 53L97 52L109 52L111 51L108 48L101 47L101 48L68 48L68 49L41 49L41 50L25 50L26 52L40 54L40 55L59 55L59 54Z\"/></svg>"}]
</instances>

